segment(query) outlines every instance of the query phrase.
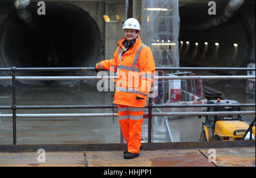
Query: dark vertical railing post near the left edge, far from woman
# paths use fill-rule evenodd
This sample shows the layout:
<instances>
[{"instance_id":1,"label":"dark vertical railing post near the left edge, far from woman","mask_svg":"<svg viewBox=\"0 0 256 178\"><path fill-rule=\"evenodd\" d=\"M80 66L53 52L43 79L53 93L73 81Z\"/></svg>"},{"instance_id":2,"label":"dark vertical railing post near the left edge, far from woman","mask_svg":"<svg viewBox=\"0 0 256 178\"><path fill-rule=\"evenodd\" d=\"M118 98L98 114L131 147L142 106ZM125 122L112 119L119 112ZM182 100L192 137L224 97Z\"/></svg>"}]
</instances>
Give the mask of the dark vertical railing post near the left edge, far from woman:
<instances>
[{"instance_id":1,"label":"dark vertical railing post near the left edge, far from woman","mask_svg":"<svg viewBox=\"0 0 256 178\"><path fill-rule=\"evenodd\" d=\"M13 104L11 105L11 109L13 109L13 145L17 145L16 142L16 80L15 80L15 71L16 67L11 67L11 75L12 75L12 92L13 92Z\"/></svg>"}]
</instances>

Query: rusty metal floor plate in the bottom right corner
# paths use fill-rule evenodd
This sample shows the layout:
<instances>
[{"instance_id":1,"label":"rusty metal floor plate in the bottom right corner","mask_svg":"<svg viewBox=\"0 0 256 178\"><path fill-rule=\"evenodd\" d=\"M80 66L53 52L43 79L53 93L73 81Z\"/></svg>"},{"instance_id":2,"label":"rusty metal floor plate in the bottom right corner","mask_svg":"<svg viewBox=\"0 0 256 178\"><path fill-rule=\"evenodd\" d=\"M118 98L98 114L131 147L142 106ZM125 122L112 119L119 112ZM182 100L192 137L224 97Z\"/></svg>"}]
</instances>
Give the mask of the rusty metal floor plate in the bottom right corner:
<instances>
[{"instance_id":1,"label":"rusty metal floor plate in the bottom right corner","mask_svg":"<svg viewBox=\"0 0 256 178\"><path fill-rule=\"evenodd\" d=\"M205 156L210 156L213 163L220 167L255 167L255 147L215 149L216 159L213 159L213 151L200 150Z\"/></svg>"}]
</instances>

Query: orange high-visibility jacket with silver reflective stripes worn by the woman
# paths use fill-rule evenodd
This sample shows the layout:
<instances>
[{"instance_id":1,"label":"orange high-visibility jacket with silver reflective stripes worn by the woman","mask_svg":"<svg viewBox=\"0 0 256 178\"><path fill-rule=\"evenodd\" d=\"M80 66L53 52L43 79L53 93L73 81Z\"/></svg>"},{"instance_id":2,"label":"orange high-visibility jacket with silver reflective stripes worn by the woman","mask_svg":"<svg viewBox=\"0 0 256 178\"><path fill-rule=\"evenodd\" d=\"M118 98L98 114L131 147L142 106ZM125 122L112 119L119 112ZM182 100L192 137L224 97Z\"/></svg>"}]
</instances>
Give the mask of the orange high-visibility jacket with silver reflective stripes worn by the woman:
<instances>
[{"instance_id":1,"label":"orange high-visibility jacket with silver reflective stripes worn by the woman","mask_svg":"<svg viewBox=\"0 0 256 178\"><path fill-rule=\"evenodd\" d=\"M125 38L117 43L114 59L96 63L96 69L118 71L114 104L144 107L154 82L154 58L151 49L142 43L139 36L136 43L121 56L123 40ZM136 99L136 96L143 99Z\"/></svg>"}]
</instances>

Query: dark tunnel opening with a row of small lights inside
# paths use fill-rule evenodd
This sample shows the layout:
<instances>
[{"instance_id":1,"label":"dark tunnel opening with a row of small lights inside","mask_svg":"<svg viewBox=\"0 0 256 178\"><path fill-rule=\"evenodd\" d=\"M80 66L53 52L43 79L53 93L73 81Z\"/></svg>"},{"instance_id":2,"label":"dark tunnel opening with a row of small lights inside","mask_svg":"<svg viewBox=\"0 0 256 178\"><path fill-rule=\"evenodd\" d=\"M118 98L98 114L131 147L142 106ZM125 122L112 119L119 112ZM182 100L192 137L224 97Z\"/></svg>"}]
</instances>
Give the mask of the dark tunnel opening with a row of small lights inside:
<instances>
[{"instance_id":1,"label":"dark tunnel opening with a row of small lights inside","mask_svg":"<svg viewBox=\"0 0 256 178\"><path fill-rule=\"evenodd\" d=\"M225 3L217 5L216 14L221 15L225 6ZM207 3L187 3L180 7L180 66L246 67L248 63L255 62L255 54L252 55L255 42L251 38L255 33L254 8L255 3L245 3L228 22L195 30L188 25L195 26L216 16L208 14Z\"/></svg>"}]
</instances>

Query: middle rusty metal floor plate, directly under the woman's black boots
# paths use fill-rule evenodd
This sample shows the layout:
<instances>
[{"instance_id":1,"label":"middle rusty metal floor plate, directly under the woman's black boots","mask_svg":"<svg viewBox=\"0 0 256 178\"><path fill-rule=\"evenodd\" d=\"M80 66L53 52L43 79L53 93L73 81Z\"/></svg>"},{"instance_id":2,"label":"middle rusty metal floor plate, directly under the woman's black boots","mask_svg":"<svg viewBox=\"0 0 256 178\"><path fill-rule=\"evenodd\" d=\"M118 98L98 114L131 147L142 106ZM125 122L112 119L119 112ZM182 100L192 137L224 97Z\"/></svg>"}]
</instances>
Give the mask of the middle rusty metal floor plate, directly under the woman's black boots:
<instances>
[{"instance_id":1,"label":"middle rusty metal floor plate, directly under the woman's black boots","mask_svg":"<svg viewBox=\"0 0 256 178\"><path fill-rule=\"evenodd\" d=\"M140 151L134 159L124 159L123 151L86 151L88 166L215 166L199 150Z\"/></svg>"}]
</instances>

